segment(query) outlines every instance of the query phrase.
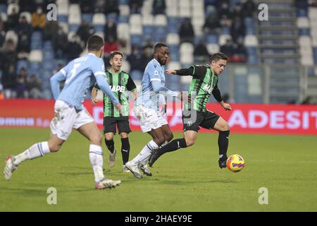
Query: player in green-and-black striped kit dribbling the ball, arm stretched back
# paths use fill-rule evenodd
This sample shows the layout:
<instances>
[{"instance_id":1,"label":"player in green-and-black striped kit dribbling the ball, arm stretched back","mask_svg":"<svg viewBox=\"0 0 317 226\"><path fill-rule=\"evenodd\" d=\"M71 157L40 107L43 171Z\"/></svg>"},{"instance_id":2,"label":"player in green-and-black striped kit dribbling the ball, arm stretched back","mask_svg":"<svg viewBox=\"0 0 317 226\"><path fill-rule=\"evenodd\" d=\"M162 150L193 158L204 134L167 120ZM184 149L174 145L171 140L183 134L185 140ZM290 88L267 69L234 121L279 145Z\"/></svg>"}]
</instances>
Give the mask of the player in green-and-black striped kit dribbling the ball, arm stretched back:
<instances>
[{"instance_id":1,"label":"player in green-and-black striped kit dribbling the ball, arm stretched back","mask_svg":"<svg viewBox=\"0 0 317 226\"><path fill-rule=\"evenodd\" d=\"M223 102L220 90L218 89L218 76L223 72L227 64L227 56L221 52L213 54L209 65L193 65L189 69L167 70L178 76L192 76L192 83L189 86L189 102L184 106L182 114L184 138L170 141L163 148L156 150L151 155L149 166L164 153L168 153L179 148L187 148L194 145L198 136L199 126L205 129L214 129L219 131L219 167L226 167L227 150L229 143L230 127L218 114L206 109L206 104L211 93L226 111L231 111L231 106Z\"/></svg>"}]
</instances>

